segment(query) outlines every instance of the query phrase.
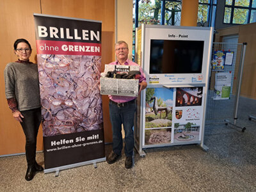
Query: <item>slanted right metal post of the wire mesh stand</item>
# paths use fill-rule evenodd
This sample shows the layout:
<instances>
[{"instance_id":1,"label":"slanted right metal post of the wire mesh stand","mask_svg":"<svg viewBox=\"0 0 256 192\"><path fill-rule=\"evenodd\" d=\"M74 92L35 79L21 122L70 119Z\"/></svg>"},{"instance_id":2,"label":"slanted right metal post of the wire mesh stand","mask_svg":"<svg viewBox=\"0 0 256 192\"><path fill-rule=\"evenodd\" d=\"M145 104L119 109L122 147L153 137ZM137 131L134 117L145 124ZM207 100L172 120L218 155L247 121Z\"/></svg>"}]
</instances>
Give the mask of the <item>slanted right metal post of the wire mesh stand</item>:
<instances>
[{"instance_id":1,"label":"slanted right metal post of the wire mesh stand","mask_svg":"<svg viewBox=\"0 0 256 192\"><path fill-rule=\"evenodd\" d=\"M236 120L237 120L237 111L238 111L238 104L239 104L239 96L240 96L240 91L241 91L241 83L242 83L242 77L243 77L243 67L244 67L244 57L245 57L245 51L246 51L246 45L247 43L243 43L243 48L242 48L242 56L240 60L240 65L239 65L239 77L238 77L238 87L236 90L236 106L235 106L235 113L234 113L234 125L236 125Z\"/></svg>"}]
</instances>

